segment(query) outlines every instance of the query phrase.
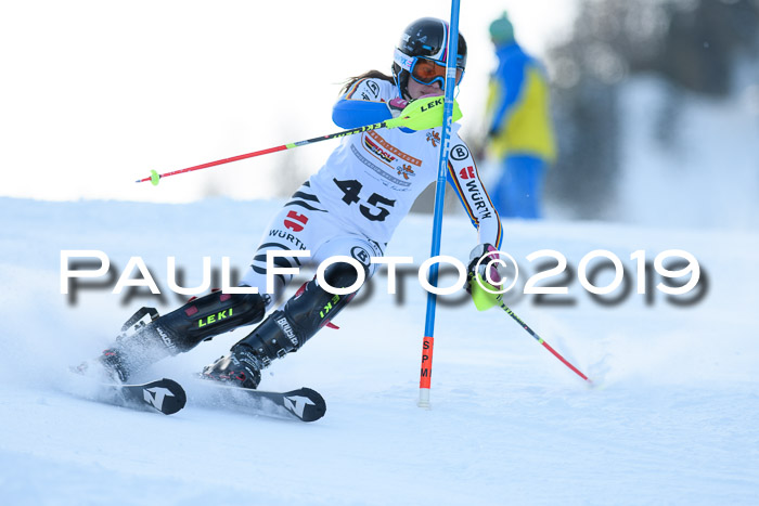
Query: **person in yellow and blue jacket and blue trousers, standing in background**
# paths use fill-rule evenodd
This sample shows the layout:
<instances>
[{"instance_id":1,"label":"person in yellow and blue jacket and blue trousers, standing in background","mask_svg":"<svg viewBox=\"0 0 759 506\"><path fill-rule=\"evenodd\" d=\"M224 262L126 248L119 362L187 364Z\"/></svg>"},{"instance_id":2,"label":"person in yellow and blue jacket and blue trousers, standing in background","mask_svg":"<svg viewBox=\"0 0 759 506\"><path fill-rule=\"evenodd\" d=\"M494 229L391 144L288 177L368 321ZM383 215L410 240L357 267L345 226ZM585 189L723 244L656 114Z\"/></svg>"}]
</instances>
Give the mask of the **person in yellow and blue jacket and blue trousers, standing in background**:
<instances>
[{"instance_id":1,"label":"person in yellow and blue jacket and blue trousers, standing in background","mask_svg":"<svg viewBox=\"0 0 759 506\"><path fill-rule=\"evenodd\" d=\"M488 154L499 160L491 192L501 217L542 217L545 172L556 158L545 70L514 38L504 12L490 24L498 68L487 101Z\"/></svg>"}]
</instances>

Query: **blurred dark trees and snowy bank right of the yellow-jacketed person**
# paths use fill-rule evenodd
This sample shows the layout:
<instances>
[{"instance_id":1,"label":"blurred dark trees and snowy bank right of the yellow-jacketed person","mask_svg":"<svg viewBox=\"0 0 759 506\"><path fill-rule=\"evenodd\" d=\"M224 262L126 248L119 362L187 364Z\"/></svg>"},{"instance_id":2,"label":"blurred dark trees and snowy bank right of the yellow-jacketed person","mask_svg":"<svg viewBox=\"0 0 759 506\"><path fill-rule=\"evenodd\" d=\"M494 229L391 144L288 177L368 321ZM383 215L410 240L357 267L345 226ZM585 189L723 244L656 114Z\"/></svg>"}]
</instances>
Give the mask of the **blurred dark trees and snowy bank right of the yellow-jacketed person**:
<instances>
[{"instance_id":1,"label":"blurred dark trees and snowy bank right of the yellow-jacketed person","mask_svg":"<svg viewBox=\"0 0 759 506\"><path fill-rule=\"evenodd\" d=\"M580 218L756 229L759 2L578 5L548 57L562 152L552 202Z\"/></svg>"}]
</instances>

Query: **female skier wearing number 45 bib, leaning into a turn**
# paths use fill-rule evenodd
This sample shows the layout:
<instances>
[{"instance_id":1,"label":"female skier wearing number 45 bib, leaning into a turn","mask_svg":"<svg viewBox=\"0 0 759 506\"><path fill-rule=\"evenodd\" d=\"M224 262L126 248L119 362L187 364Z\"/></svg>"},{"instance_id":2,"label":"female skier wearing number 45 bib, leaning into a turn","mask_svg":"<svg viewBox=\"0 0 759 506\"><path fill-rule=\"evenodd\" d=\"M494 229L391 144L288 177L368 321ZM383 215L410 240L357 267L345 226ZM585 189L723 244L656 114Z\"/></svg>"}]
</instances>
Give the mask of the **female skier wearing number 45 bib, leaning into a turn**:
<instances>
[{"instance_id":1,"label":"female skier wearing number 45 bib, leaning into a turn","mask_svg":"<svg viewBox=\"0 0 759 506\"><path fill-rule=\"evenodd\" d=\"M409 25L395 51L393 77L371 70L352 78L334 107L335 124L349 129L382 122L396 117L411 101L442 94L448 33L446 22L432 17ZM458 52L456 86L466 65L466 42L462 36ZM459 125L453 124L448 180L478 231L479 245L472 256L478 260L499 248L501 222L458 130ZM371 277L376 264L370 258L384 255L393 232L414 199L437 178L440 131L377 129L346 137L321 170L293 194L265 233L250 270L241 281L241 287L257 288L258 294L215 291L159 317L155 310L143 308L125 328L149 313L153 320L138 323L133 334L119 337L100 361L113 376L126 381L132 373L157 360L260 322L228 355L203 371L207 379L258 387L261 369L274 359L298 350L358 291L357 288L334 295L314 277L263 320L293 278L291 274L275 275L273 293L268 291L267 252L311 251L308 259L278 257L278 268L294 268L305 260L319 264L333 256L348 256L363 265L365 278ZM324 271L324 281L333 288L352 287L358 278L355 265L348 262L332 263Z\"/></svg>"}]
</instances>

